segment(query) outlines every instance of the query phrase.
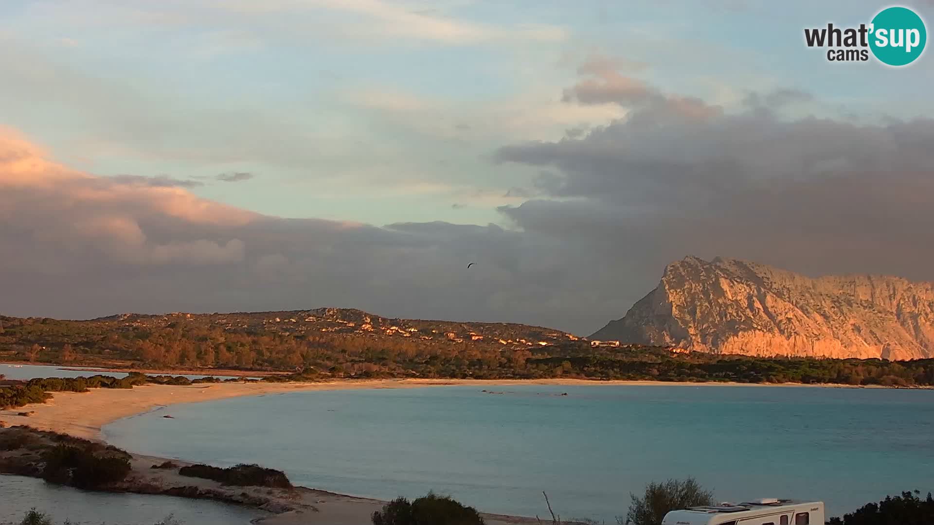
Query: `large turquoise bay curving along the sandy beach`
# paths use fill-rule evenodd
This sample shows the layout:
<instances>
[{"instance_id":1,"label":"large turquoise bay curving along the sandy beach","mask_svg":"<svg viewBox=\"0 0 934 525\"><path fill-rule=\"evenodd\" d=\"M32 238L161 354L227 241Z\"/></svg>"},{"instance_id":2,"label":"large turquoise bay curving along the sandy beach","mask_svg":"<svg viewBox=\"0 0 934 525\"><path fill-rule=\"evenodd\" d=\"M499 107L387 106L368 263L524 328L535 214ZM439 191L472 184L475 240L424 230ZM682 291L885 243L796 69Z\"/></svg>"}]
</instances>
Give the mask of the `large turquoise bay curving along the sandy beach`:
<instances>
[{"instance_id":1,"label":"large turquoise bay curving along the sandy beach","mask_svg":"<svg viewBox=\"0 0 934 525\"><path fill-rule=\"evenodd\" d=\"M831 514L934 490L932 390L481 390L290 392L170 406L105 431L134 451L259 462L304 486L383 499L435 490L534 516L547 512L545 490L563 517L608 522L630 491L687 475L718 500L813 498Z\"/></svg>"}]
</instances>

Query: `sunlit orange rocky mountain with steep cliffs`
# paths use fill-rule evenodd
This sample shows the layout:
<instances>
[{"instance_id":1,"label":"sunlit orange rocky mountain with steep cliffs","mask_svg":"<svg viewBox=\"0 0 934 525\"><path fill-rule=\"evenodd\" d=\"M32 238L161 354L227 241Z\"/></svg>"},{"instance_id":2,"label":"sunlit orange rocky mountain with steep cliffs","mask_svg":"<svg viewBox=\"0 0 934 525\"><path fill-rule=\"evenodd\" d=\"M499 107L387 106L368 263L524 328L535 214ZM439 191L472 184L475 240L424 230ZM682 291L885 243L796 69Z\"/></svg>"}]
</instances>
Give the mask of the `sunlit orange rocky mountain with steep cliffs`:
<instances>
[{"instance_id":1,"label":"sunlit orange rocky mountain with steep cliffs","mask_svg":"<svg viewBox=\"0 0 934 525\"><path fill-rule=\"evenodd\" d=\"M686 257L591 339L753 356L934 357L934 283Z\"/></svg>"}]
</instances>

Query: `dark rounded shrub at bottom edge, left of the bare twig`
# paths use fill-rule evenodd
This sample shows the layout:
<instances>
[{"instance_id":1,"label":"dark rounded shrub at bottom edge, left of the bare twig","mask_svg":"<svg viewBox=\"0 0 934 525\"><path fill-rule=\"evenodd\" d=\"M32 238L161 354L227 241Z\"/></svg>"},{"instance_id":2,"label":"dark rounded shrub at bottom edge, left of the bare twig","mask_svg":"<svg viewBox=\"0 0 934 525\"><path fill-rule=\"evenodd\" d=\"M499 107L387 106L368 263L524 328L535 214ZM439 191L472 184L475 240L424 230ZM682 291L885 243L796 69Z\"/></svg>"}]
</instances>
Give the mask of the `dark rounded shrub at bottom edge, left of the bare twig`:
<instances>
[{"instance_id":1,"label":"dark rounded shrub at bottom edge, left of the bare twig","mask_svg":"<svg viewBox=\"0 0 934 525\"><path fill-rule=\"evenodd\" d=\"M374 525L484 525L474 507L432 492L411 503L397 498L373 513L372 521Z\"/></svg>"}]
</instances>

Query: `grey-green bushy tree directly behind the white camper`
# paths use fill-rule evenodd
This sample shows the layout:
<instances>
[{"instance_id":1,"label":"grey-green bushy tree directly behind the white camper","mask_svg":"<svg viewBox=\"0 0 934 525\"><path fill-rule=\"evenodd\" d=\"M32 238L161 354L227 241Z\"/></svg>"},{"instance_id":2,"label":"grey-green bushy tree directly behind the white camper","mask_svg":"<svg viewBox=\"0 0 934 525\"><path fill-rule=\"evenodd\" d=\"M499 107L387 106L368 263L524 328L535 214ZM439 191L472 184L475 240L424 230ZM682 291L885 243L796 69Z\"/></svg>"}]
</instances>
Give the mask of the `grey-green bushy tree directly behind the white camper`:
<instances>
[{"instance_id":1,"label":"grey-green bushy tree directly behind the white camper","mask_svg":"<svg viewBox=\"0 0 934 525\"><path fill-rule=\"evenodd\" d=\"M714 504L714 493L703 490L693 477L669 479L664 483L649 483L642 498L630 494L632 504L626 519L616 518L619 525L661 525L672 510Z\"/></svg>"}]
</instances>

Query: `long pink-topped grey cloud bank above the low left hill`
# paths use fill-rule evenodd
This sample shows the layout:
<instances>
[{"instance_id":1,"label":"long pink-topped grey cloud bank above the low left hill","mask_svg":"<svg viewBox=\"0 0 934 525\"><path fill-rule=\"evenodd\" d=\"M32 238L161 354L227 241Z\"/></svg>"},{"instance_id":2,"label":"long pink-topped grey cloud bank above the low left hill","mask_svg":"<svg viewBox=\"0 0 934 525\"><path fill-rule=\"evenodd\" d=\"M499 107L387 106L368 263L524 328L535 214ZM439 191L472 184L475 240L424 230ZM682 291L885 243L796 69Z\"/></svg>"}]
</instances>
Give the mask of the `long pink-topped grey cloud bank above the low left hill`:
<instances>
[{"instance_id":1,"label":"long pink-topped grey cloud bank above the low left hill","mask_svg":"<svg viewBox=\"0 0 934 525\"><path fill-rule=\"evenodd\" d=\"M49 159L29 140L0 133L7 315L333 305L587 331L600 302L602 292L579 292L597 288L591 272L579 271L587 251L546 236L441 221L281 219ZM463 272L467 260L482 270Z\"/></svg>"}]
</instances>

